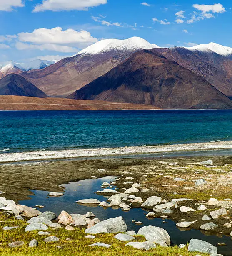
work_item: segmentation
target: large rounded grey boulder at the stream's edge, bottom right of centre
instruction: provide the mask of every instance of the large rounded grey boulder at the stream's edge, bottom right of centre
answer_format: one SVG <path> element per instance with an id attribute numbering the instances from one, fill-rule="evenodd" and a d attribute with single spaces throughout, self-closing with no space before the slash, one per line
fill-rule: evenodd
<path id="1" fill-rule="evenodd" d="M 170 236 L 166 230 L 159 227 L 147 226 L 142 227 L 137 235 L 144 236 L 147 241 L 158 243 L 160 246 L 170 246 Z"/>

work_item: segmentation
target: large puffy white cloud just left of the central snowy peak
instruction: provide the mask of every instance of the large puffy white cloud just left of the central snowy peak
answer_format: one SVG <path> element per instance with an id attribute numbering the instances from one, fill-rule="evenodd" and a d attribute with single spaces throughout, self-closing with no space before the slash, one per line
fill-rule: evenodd
<path id="1" fill-rule="evenodd" d="M 74 29 L 62 30 L 60 27 L 47 29 L 39 28 L 33 32 L 22 32 L 18 34 L 19 41 L 33 44 L 74 44 L 95 43 L 97 38 L 91 36 L 85 30 L 75 31 Z"/>

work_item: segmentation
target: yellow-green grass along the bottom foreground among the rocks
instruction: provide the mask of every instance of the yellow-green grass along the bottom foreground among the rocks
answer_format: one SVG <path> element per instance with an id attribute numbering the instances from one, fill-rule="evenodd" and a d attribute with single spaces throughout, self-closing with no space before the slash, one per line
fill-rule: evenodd
<path id="1" fill-rule="evenodd" d="M 25 232 L 27 223 L 22 220 L 15 220 L 13 217 L 0 214 L 0 255 L 1 256 L 60 256 L 60 255 L 93 255 L 93 256 L 108 256 L 108 255 L 154 255 L 154 256 L 195 256 L 196 253 L 190 253 L 186 248 L 179 249 L 177 246 L 157 248 L 150 251 L 140 251 L 125 246 L 127 242 L 116 240 L 114 234 L 97 234 L 95 239 L 87 239 L 84 229 L 76 228 L 73 231 L 62 229 L 49 229 L 50 236 L 57 236 L 60 241 L 53 243 L 45 243 L 43 240 L 46 236 L 39 236 L 37 231 Z M 2 230 L 4 226 L 20 226 L 14 230 Z M 66 241 L 66 238 L 71 238 L 71 241 Z M 39 242 L 38 247 L 30 248 L 28 243 L 32 239 L 37 239 Z M 13 241 L 24 241 L 25 245 L 17 248 L 10 248 L 8 243 Z M 136 236 L 134 241 L 145 241 L 142 236 Z M 96 242 L 108 243 L 110 248 L 90 247 L 88 245 Z M 61 246 L 62 249 L 56 246 Z M 202 256 L 208 254 L 201 253 Z"/>

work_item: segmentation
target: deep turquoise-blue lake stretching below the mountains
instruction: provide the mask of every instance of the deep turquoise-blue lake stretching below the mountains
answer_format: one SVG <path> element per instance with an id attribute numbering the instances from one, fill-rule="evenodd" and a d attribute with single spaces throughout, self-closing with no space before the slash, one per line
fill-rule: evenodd
<path id="1" fill-rule="evenodd" d="M 232 140 L 232 110 L 1 111 L 0 153 Z"/>

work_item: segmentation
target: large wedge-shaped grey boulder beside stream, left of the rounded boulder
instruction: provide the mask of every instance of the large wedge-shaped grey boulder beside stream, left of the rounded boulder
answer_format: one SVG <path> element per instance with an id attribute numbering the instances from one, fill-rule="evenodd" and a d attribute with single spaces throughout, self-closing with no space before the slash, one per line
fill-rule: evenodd
<path id="1" fill-rule="evenodd" d="M 97 223 L 91 228 L 87 228 L 85 233 L 87 234 L 98 234 L 98 233 L 120 233 L 127 231 L 127 225 L 123 218 L 116 217 L 108 220 L 103 220 Z"/>

